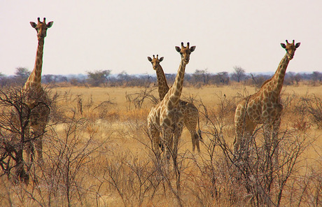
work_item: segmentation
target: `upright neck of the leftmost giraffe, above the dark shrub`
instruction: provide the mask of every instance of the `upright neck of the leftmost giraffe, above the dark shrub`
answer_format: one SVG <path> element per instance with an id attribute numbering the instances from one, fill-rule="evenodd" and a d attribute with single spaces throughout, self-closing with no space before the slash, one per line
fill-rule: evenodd
<path id="1" fill-rule="evenodd" d="M 36 62 L 34 70 L 31 72 L 24 89 L 27 90 L 30 87 L 41 87 L 41 69 L 43 67 L 43 44 L 44 39 L 38 41 L 38 47 L 36 52 Z"/>

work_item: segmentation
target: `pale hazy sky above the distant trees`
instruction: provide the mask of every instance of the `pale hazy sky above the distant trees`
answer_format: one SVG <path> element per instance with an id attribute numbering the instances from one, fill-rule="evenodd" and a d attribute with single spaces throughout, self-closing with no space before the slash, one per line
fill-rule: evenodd
<path id="1" fill-rule="evenodd" d="M 0 1 L 0 73 L 34 68 L 36 31 L 46 17 L 44 74 L 109 69 L 113 74 L 154 74 L 147 57 L 165 57 L 176 73 L 183 41 L 197 48 L 186 73 L 241 66 L 247 73 L 274 72 L 285 40 L 300 42 L 288 71 L 322 71 L 322 1 Z"/>

